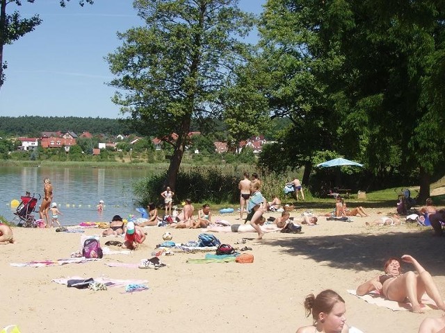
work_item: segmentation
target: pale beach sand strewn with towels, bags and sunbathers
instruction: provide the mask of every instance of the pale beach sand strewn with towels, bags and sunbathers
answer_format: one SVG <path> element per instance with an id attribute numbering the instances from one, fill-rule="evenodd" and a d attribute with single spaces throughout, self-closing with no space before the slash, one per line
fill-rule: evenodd
<path id="1" fill-rule="evenodd" d="M 350 207 L 353 204 L 350 203 Z M 138 264 L 152 257 L 167 228 L 146 228 L 147 241 L 130 255 L 106 255 L 97 262 L 40 268 L 15 267 L 11 263 L 56 260 L 79 249 L 81 234 L 54 229 L 14 228 L 16 244 L 0 246 L 0 328 L 10 324 L 26 332 L 295 332 L 312 323 L 302 302 L 308 293 L 334 289 L 346 301 L 347 323 L 366 333 L 417 332 L 426 314 L 391 311 L 371 305 L 347 293 L 380 273 L 390 256 L 410 254 L 433 275 L 445 296 L 445 239 L 432 237 L 430 228 L 414 225 L 369 227 L 366 221 L 380 216 L 369 210 L 368 218 L 352 223 L 326 221 L 303 226 L 300 234 L 218 233 L 225 244 L 246 246 L 253 264 L 191 264 L 204 253 L 161 256 L 167 267 L 159 270 L 108 267 L 106 262 Z M 302 210 L 291 213 L 298 220 Z M 385 212 L 385 210 L 383 210 Z M 106 214 L 106 212 L 104 213 Z M 278 213 L 268 213 L 278 216 Z M 217 216 L 236 223 L 236 214 Z M 197 240 L 203 230 L 170 230 L 173 240 Z M 86 229 L 85 234 L 102 230 Z M 107 240 L 122 240 L 102 237 Z M 117 250 L 113 246 L 112 250 Z M 410 266 L 405 264 L 405 269 Z M 51 282 L 79 275 L 83 278 L 147 280 L 149 290 L 125 293 L 123 287 L 107 291 L 67 288 Z"/>

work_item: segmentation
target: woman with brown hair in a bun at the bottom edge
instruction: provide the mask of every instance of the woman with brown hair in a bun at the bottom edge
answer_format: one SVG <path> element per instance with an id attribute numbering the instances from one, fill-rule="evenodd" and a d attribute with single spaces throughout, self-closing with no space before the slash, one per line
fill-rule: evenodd
<path id="1" fill-rule="evenodd" d="M 313 293 L 309 294 L 305 299 L 305 309 L 308 317 L 312 314 L 314 324 L 300 327 L 297 333 L 350 332 L 346 325 L 345 301 L 335 291 L 326 289 L 317 297 Z"/>

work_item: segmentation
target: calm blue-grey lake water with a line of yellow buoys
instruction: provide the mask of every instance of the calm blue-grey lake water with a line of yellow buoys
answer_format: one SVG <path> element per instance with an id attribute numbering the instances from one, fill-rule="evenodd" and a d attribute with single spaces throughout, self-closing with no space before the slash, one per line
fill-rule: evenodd
<path id="1" fill-rule="evenodd" d="M 137 198 L 132 182 L 147 176 L 145 170 L 70 169 L 49 167 L 0 167 L 0 215 L 13 221 L 15 209 L 11 200 L 20 201 L 26 191 L 43 196 L 43 179 L 51 180 L 54 198 L 62 225 L 77 225 L 84 221 L 111 221 L 115 214 L 127 218 L 136 212 Z M 104 212 L 97 212 L 99 200 L 105 201 Z M 42 200 L 38 200 L 38 205 Z M 36 208 L 38 210 L 38 207 Z M 39 219 L 38 212 L 35 219 Z M 13 221 L 15 223 L 17 221 Z"/>

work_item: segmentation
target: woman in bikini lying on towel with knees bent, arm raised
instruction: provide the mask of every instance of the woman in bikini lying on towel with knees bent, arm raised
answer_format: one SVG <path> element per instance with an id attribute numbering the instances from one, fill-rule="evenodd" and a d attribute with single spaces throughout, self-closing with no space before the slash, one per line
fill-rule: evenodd
<path id="1" fill-rule="evenodd" d="M 423 293 L 426 292 L 436 302 L 437 307 L 445 311 L 444 300 L 440 296 L 430 273 L 410 255 L 403 255 L 401 259 L 403 262 L 412 264 L 416 272 L 402 273 L 401 261 L 398 258 L 390 258 L 385 262 L 385 274 L 378 275 L 359 285 L 357 295 L 364 296 L 366 293 L 376 290 L 388 300 L 405 302 L 408 298 L 412 305 L 411 311 L 423 313 L 421 298 Z"/>

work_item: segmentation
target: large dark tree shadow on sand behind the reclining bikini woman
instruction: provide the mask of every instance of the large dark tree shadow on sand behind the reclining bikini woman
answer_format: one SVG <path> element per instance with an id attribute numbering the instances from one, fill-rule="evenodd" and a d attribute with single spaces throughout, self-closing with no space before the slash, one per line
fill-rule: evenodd
<path id="1" fill-rule="evenodd" d="M 389 257 L 408 254 L 416 258 L 432 275 L 445 275 L 445 237 L 435 237 L 432 233 L 432 230 L 419 230 L 315 237 L 291 234 L 282 239 L 265 238 L 262 242 L 282 246 L 282 250 L 288 255 L 305 255 L 327 266 L 356 271 L 382 271 L 383 264 Z M 410 264 L 406 264 L 405 270 L 412 269 L 409 266 Z"/>

